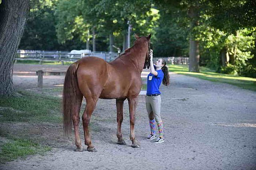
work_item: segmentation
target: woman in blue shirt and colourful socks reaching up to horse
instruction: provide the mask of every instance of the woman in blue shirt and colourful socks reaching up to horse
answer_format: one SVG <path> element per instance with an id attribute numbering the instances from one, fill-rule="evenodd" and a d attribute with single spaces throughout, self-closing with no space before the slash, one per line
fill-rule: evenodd
<path id="1" fill-rule="evenodd" d="M 161 109 L 161 93 L 159 87 L 161 82 L 163 85 L 169 85 L 169 72 L 166 67 L 166 61 L 164 59 L 158 59 L 153 64 L 153 50 L 150 49 L 150 73 L 148 74 L 147 81 L 147 95 L 146 95 L 146 109 L 148 112 L 149 126 L 151 133 L 148 135 L 149 140 L 156 138 L 156 132 L 154 130 L 156 124 L 158 127 L 159 137 L 156 139 L 156 143 L 164 142 L 163 137 L 163 122 L 160 116 Z"/>

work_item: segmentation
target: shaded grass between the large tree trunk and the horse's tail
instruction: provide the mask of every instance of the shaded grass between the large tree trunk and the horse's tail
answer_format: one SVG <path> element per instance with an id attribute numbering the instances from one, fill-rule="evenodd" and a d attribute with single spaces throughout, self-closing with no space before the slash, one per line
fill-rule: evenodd
<path id="1" fill-rule="evenodd" d="M 61 122 L 61 99 L 32 93 L 0 98 L 0 122 Z"/>

